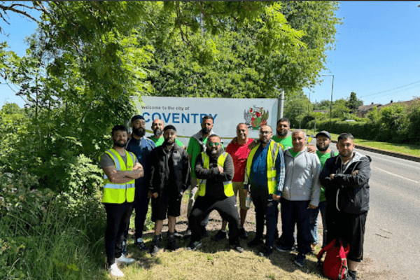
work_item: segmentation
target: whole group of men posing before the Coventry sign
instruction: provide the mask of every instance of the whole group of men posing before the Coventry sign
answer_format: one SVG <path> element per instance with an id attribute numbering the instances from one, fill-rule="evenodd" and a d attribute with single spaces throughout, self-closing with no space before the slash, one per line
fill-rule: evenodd
<path id="1" fill-rule="evenodd" d="M 316 151 L 306 145 L 303 130 L 290 134 L 289 120 L 281 118 L 276 124 L 276 135 L 273 136 L 272 127 L 262 125 L 255 141 L 248 138 L 246 124 L 239 123 L 237 137 L 225 149 L 213 131 L 213 118 L 204 116 L 202 129 L 190 138 L 186 150 L 176 139 L 176 127 L 164 126 L 162 120 L 153 120 L 154 134 L 150 139 L 144 137 L 146 123 L 142 116 L 134 116 L 131 126 L 130 139 L 124 126 L 113 128 L 113 148 L 101 158 L 105 173 L 102 202 L 107 214 L 106 255 L 112 275 L 124 275 L 118 269 L 118 262 L 134 262 L 125 256 L 133 208 L 136 212 L 134 244 L 141 250 L 147 249 L 142 233 L 150 197 L 155 222 L 151 255 L 160 251 L 166 218 L 169 228 L 166 248 L 179 248 L 175 239 L 176 217 L 180 216 L 183 193 L 190 188 L 188 250 L 202 245 L 209 214 L 216 210 L 223 218 L 223 225 L 212 239 L 225 239 L 229 223 L 230 248 L 241 253 L 244 249 L 239 238 L 248 237 L 244 222 L 250 207 L 247 200 L 251 198 L 256 230 L 248 246 L 261 246 L 260 255 L 268 257 L 278 237 L 280 203 L 282 233 L 275 248 L 291 251 L 295 246 L 296 227 L 294 262 L 303 267 L 305 255 L 318 243 L 317 220 L 321 211 L 323 246 L 336 238 L 349 243 L 348 279 L 356 279 L 357 265 L 363 258 L 370 158 L 353 151 L 351 134 L 339 136 L 337 155 L 330 151 L 330 134 L 319 132 Z"/>

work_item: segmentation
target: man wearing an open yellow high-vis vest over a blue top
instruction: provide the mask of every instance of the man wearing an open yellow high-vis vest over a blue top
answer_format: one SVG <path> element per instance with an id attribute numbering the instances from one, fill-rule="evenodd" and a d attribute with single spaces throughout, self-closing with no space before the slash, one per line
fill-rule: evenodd
<path id="1" fill-rule="evenodd" d="M 277 230 L 279 202 L 275 196 L 281 195 L 284 183 L 284 158 L 281 144 L 272 140 L 272 128 L 269 125 L 260 127 L 260 141 L 246 160 L 244 188 L 251 191 L 255 205 L 256 235 L 248 246 L 259 246 L 263 243 L 264 223 L 267 225 L 265 246 L 260 255 L 268 257 L 273 252 L 274 236 Z M 251 185 L 251 188 L 249 187 Z"/>

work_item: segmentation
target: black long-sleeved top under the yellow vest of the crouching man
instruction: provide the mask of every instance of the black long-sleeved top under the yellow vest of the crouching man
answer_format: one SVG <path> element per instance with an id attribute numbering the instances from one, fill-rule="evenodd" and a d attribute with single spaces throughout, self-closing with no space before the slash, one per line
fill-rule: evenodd
<path id="1" fill-rule="evenodd" d="M 232 181 L 233 175 L 235 174 L 235 167 L 233 166 L 232 156 L 228 155 L 225 159 L 225 164 L 223 165 L 223 173 L 219 172 L 217 167 L 218 157 L 224 152 L 223 148 L 218 151 L 216 158 L 211 157 L 209 149 L 206 153 L 209 155 L 209 169 L 203 167 L 202 154 L 197 156 L 195 161 L 195 174 L 199 183 L 202 179 L 206 180 L 206 194 L 204 197 L 212 197 L 216 200 L 224 200 L 225 195 L 225 186 L 223 182 Z"/>

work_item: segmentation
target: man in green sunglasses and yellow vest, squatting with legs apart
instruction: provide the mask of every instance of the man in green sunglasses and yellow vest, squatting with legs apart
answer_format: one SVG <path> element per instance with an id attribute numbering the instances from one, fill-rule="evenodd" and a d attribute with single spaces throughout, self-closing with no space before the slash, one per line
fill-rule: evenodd
<path id="1" fill-rule="evenodd" d="M 223 150 L 221 138 L 216 134 L 209 136 L 206 146 L 206 151 L 198 155 L 195 162 L 195 174 L 200 186 L 197 191 L 197 200 L 188 218 L 191 239 L 187 249 L 195 250 L 201 246 L 200 224 L 211 211 L 217 210 L 223 221 L 229 223 L 230 247 L 241 253 L 244 249 L 239 244 L 239 214 L 232 186 L 235 173 L 233 160 Z"/>

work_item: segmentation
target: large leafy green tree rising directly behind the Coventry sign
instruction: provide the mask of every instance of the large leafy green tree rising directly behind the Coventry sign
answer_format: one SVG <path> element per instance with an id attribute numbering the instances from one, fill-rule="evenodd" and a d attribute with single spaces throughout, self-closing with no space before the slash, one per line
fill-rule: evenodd
<path id="1" fill-rule="evenodd" d="M 141 40 L 155 46 L 153 62 L 148 66 L 152 94 L 277 97 L 277 88 L 293 94 L 314 85 L 339 23 L 336 2 L 251 2 L 244 3 L 245 11 L 240 13 L 228 8 L 241 10 L 241 3 L 201 5 L 186 2 L 177 6 L 176 2 L 148 8 L 146 22 L 151 23 L 139 30 Z M 169 6 L 179 7 L 181 12 L 168 10 Z M 203 14 L 201 32 L 203 8 L 208 13 Z M 251 8 L 252 13 L 246 10 Z M 252 18 L 244 20 L 250 13 Z M 215 22 L 211 18 L 215 14 L 221 15 L 223 22 Z M 180 18 L 195 20 L 188 20 L 189 29 L 172 29 Z M 167 32 L 157 31 L 164 29 Z"/>

